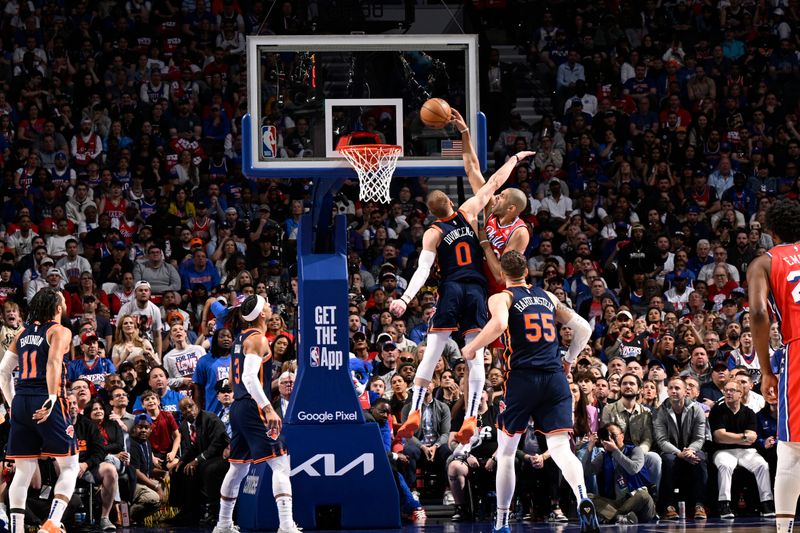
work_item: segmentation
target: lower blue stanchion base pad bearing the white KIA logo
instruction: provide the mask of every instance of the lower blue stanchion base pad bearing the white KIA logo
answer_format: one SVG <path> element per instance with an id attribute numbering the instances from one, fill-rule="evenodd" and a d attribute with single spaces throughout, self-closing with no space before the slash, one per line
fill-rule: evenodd
<path id="1" fill-rule="evenodd" d="M 284 437 L 301 528 L 317 529 L 319 506 L 340 506 L 342 529 L 400 527 L 397 487 L 376 424 L 289 425 Z M 248 530 L 278 528 L 267 463 L 251 466 L 242 483 L 236 523 Z"/>

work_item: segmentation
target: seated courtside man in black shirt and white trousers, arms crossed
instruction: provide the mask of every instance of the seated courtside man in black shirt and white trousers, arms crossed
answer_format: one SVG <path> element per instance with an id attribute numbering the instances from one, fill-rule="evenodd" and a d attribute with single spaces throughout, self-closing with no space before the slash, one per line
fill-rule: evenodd
<path id="1" fill-rule="evenodd" d="M 736 381 L 726 383 L 724 400 L 715 404 L 708 416 L 716 450 L 713 461 L 717 467 L 719 483 L 719 514 L 721 518 L 734 517 L 730 505 L 731 479 L 733 470 L 741 466 L 756 477 L 761 516 L 774 517 L 769 465 L 758 454 L 754 445 L 758 438 L 758 421 L 756 414 L 742 405 L 741 397 L 742 389 Z"/>

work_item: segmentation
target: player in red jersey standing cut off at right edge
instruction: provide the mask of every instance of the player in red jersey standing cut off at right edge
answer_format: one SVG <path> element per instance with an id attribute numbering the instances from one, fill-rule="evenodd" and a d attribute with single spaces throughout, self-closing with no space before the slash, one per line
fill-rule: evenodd
<path id="1" fill-rule="evenodd" d="M 767 210 L 766 225 L 777 245 L 747 269 L 750 327 L 761 367 L 761 394 L 778 402 L 778 467 L 775 517 L 779 533 L 792 531 L 800 496 L 800 204 L 779 200 Z M 786 343 L 780 379 L 769 357 L 770 293 Z"/>

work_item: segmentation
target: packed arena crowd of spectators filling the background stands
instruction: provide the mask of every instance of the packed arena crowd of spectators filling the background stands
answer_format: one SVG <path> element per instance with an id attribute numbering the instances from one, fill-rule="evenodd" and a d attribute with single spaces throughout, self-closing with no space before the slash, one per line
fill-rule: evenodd
<path id="1" fill-rule="evenodd" d="M 304 180 L 242 175 L 245 36 L 352 28 L 314 1 L 272 11 L 262 0 L 2 5 L 3 352 L 32 296 L 63 290 L 84 495 L 71 520 L 87 520 L 91 491 L 99 503 L 89 516 L 105 531 L 122 524 L 123 507 L 133 523 L 210 524 L 233 401 L 220 306 L 269 298 L 273 405 L 283 414 L 296 370 L 295 242 L 309 207 Z M 746 271 L 773 245 L 768 206 L 800 199 L 800 8 L 509 0 L 471 2 L 465 13 L 481 35 L 495 162 L 537 151 L 509 180 L 528 196 L 530 283 L 594 328 L 570 380 L 574 450 L 598 513 L 669 519 L 681 502 L 695 519 L 770 516 L 777 413 L 758 394 Z M 500 61 L 491 39 L 503 31 L 526 62 Z M 551 110 L 536 124 L 514 107 L 531 96 L 525 80 Z M 308 149 L 291 95 L 267 96 L 281 153 Z M 350 220 L 350 366 L 393 465 L 419 489 L 412 501 L 444 498 L 454 520 L 468 520 L 493 491 L 502 348 L 485 359 L 481 441 L 469 454 L 451 453 L 466 387 L 460 339 L 437 367 L 423 427 L 393 438 L 436 305 L 431 279 L 406 315 L 387 310 L 432 220 L 427 191 L 421 177 L 397 181 L 389 206 L 359 203 L 352 185 L 339 199 Z M 566 350 L 569 328 L 558 342 Z M 776 369 L 781 347 L 775 324 Z M 529 429 L 518 516 L 566 520 L 569 491 Z M 55 476 L 52 461 L 40 471 L 31 514 Z"/>

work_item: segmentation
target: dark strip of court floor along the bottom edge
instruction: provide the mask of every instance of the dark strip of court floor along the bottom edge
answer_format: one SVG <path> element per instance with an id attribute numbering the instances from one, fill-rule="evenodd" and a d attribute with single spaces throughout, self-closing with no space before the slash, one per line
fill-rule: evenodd
<path id="1" fill-rule="evenodd" d="M 736 520 L 707 520 L 705 522 L 694 522 L 693 520 L 676 522 L 651 522 L 649 524 L 638 524 L 633 526 L 600 526 L 603 533 L 682 533 L 686 531 L 712 531 L 719 533 L 774 533 L 775 521 L 764 520 L 761 518 L 737 518 Z M 175 533 L 210 533 L 211 529 L 202 528 L 153 528 L 153 529 L 131 529 L 121 528 L 119 533 L 156 533 L 172 532 Z M 401 530 L 354 530 L 352 533 L 373 533 L 380 531 L 402 531 L 402 533 L 415 533 L 424 531 L 425 533 L 491 533 L 492 524 L 489 522 L 458 523 L 433 521 L 424 527 L 405 526 Z M 538 523 L 514 523 L 511 524 L 511 533 L 579 533 L 580 528 L 577 523 L 569 524 L 548 524 Z M 320 530 L 323 533 L 323 530 Z M 333 532 L 332 532 L 333 533 Z M 335 533 L 351 533 L 347 530 L 336 530 Z"/>

